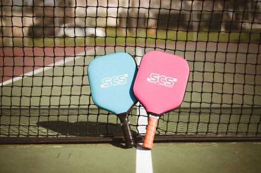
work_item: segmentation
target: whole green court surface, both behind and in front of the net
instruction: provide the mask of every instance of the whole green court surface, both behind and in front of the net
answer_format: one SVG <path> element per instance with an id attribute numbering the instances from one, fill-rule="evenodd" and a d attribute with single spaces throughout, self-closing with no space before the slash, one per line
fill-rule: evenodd
<path id="1" fill-rule="evenodd" d="M 160 118 L 156 135 L 260 135 L 260 45 L 184 42 L 175 44 L 180 51 L 169 46 L 162 47 L 186 57 L 190 79 L 181 107 Z M 119 51 L 130 53 L 139 65 L 149 50 L 153 45 L 96 47 L 47 65 L 34 77 L 26 74 L 5 83 L 0 137 L 122 135 L 117 116 L 93 104 L 87 67 L 94 55 Z M 147 115 L 138 104 L 129 116 L 134 135 L 144 134 L 139 127 L 146 124 L 138 123 L 142 117 Z M 137 168 L 143 164 L 138 164 L 139 151 L 119 143 L 0 145 L 0 172 L 146 173 Z M 155 143 L 151 158 L 153 173 L 259 173 L 261 143 Z"/>

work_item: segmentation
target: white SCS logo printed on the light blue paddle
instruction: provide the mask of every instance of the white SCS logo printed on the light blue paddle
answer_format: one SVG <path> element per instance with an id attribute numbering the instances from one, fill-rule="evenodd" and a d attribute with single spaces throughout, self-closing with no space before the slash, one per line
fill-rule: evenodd
<path id="1" fill-rule="evenodd" d="M 102 85 L 100 87 L 110 87 L 110 86 L 118 86 L 118 85 L 123 85 L 126 84 L 128 74 L 122 74 L 119 76 L 113 76 L 111 78 L 104 78 L 102 79 Z"/>

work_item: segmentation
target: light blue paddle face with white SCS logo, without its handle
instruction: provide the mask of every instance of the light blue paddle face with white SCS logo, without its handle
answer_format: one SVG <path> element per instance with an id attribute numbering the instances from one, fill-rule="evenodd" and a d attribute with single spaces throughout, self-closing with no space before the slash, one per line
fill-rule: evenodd
<path id="1" fill-rule="evenodd" d="M 136 74 L 137 65 L 128 53 L 95 58 L 88 66 L 95 105 L 114 114 L 127 112 L 137 102 L 133 93 Z"/>

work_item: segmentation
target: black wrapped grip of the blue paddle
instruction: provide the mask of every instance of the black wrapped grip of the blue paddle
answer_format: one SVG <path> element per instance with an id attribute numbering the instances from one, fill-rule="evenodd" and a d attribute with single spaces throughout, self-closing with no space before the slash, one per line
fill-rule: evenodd
<path id="1" fill-rule="evenodd" d="M 121 125 L 122 132 L 123 132 L 124 139 L 125 139 L 125 147 L 132 148 L 135 146 L 135 140 L 132 136 L 128 113 L 120 114 L 120 115 L 118 115 L 118 117 L 119 117 L 119 120 L 121 123 L 120 125 Z"/>

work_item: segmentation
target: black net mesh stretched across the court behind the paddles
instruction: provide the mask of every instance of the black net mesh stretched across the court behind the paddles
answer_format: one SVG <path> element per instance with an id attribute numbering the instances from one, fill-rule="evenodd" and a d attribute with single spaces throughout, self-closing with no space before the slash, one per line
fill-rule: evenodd
<path id="1" fill-rule="evenodd" d="M 139 65 L 151 50 L 190 65 L 184 101 L 155 139 L 258 137 L 260 21 L 260 0 L 0 0 L 0 137 L 122 136 L 117 116 L 93 103 L 88 64 L 127 52 Z M 129 119 L 144 135 L 142 105 Z"/>

